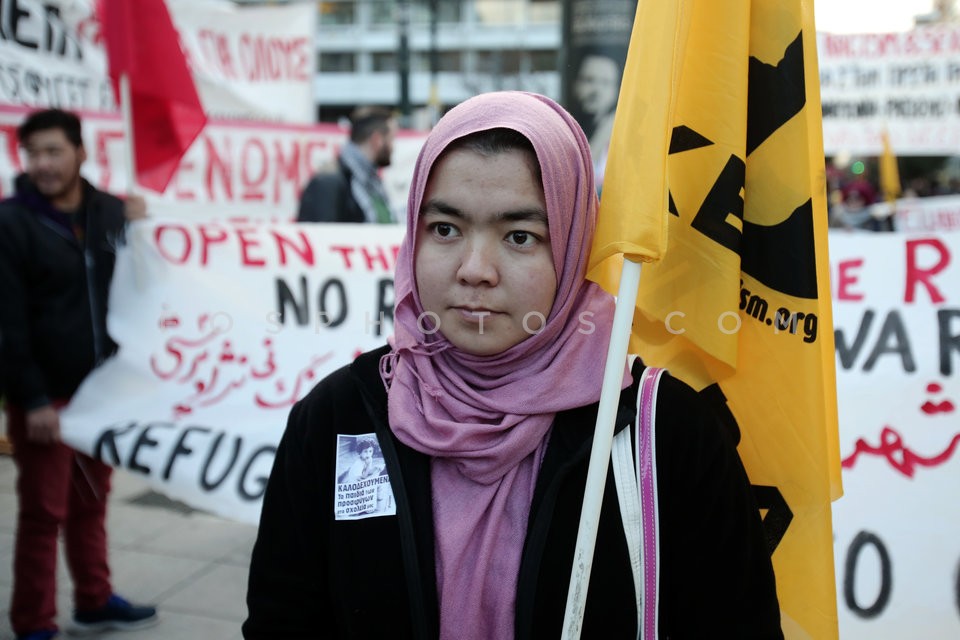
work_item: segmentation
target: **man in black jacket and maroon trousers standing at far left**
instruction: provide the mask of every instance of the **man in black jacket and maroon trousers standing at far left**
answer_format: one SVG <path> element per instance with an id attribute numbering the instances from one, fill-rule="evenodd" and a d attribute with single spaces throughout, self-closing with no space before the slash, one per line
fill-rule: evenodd
<path id="1" fill-rule="evenodd" d="M 57 537 L 74 582 L 77 630 L 135 628 L 153 607 L 113 593 L 104 520 L 110 467 L 60 436 L 59 410 L 117 345 L 106 328 L 116 246 L 139 197 L 98 191 L 80 176 L 80 120 L 57 109 L 18 128 L 26 173 L 0 202 L 0 361 L 17 464 L 19 516 L 10 621 L 17 638 L 57 633 Z"/>

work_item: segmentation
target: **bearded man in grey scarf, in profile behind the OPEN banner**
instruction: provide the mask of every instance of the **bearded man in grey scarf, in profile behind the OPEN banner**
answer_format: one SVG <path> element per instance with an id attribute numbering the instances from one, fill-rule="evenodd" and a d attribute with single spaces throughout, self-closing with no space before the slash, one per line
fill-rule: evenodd
<path id="1" fill-rule="evenodd" d="M 298 222 L 396 222 L 377 172 L 390 165 L 397 119 L 388 109 L 360 107 L 350 122 L 339 157 L 304 188 Z"/>

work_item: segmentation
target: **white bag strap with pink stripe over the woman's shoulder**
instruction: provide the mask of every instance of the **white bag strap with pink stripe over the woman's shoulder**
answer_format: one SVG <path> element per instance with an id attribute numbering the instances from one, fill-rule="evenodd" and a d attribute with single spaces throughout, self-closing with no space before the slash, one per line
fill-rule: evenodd
<path id="1" fill-rule="evenodd" d="M 632 362 L 631 362 L 632 365 Z M 636 449 L 630 429 L 613 438 L 611 464 L 627 551 L 637 595 L 637 628 L 640 640 L 656 640 L 660 578 L 659 510 L 656 466 L 656 403 L 663 369 L 647 367 L 637 389 Z"/>

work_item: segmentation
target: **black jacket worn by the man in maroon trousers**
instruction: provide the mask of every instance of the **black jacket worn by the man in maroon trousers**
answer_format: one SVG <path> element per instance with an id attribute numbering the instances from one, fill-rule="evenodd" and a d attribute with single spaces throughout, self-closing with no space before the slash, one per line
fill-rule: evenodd
<path id="1" fill-rule="evenodd" d="M 16 194 L 0 202 L 0 371 L 10 402 L 33 409 L 68 398 L 116 351 L 107 335 L 107 296 L 123 207 L 84 181 L 72 220 L 25 175 Z"/>

